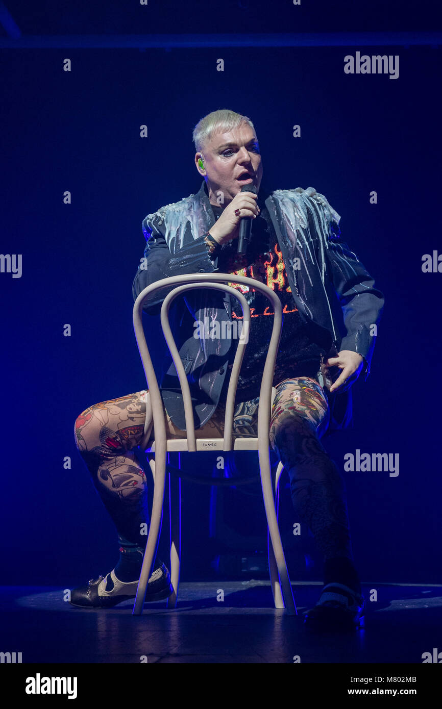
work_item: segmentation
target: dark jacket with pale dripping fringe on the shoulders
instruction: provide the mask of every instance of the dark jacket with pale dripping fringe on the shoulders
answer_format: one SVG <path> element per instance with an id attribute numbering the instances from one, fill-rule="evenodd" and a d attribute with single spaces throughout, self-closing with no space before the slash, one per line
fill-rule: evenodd
<path id="1" fill-rule="evenodd" d="M 355 253 L 341 242 L 338 227 L 341 217 L 313 187 L 264 194 L 268 194 L 265 206 L 282 251 L 294 303 L 311 339 L 324 347 L 328 357 L 340 350 L 361 354 L 366 380 L 375 346 L 372 328 L 380 320 L 384 296 L 375 288 L 375 282 Z M 216 272 L 217 262 L 209 258 L 204 242 L 204 234 L 215 221 L 205 182 L 197 194 L 148 214 L 143 220 L 147 244 L 132 286 L 134 301 L 146 286 L 160 279 Z M 158 291 L 145 304 L 144 311 L 157 315 L 166 294 L 165 289 Z M 333 314 L 336 296 L 347 330 L 343 337 Z M 172 329 L 189 381 L 197 427 L 204 425 L 215 411 L 228 371 L 226 363 L 231 361 L 231 348 L 236 349 L 236 344 L 228 338 L 195 339 L 194 321 L 206 322 L 204 317 L 214 316 L 211 308 L 215 309 L 218 320 L 231 320 L 231 297 L 219 291 L 189 292 L 181 298 L 178 326 L 175 331 Z M 170 362 L 169 355 L 167 364 Z M 167 372 L 163 369 L 159 379 L 167 412 L 177 428 L 184 430 L 184 407 L 173 363 Z M 346 428 L 352 413 L 351 391 L 329 395 L 329 403 L 328 432 Z"/>

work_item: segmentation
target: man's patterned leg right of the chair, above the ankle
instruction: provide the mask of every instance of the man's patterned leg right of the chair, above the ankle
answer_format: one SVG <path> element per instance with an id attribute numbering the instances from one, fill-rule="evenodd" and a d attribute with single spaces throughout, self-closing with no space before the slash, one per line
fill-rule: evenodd
<path id="1" fill-rule="evenodd" d="M 324 391 L 310 377 L 286 379 L 276 389 L 270 442 L 289 471 L 294 509 L 324 559 L 351 559 L 343 479 L 319 442 L 329 420 Z"/>

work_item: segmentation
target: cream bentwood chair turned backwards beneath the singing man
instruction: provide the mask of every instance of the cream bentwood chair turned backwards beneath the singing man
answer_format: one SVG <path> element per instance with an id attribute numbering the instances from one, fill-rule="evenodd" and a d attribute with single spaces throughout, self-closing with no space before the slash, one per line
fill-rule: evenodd
<path id="1" fill-rule="evenodd" d="M 249 286 L 249 288 L 254 288 L 270 300 L 275 316 L 260 387 L 260 399 L 258 406 L 258 438 L 237 437 L 232 448 L 233 413 L 236 388 L 238 386 L 238 375 L 240 372 L 241 363 L 243 362 L 244 348 L 248 340 L 248 338 L 245 337 L 245 333 L 250 332 L 250 308 L 245 300 L 245 297 L 238 289 L 226 285 L 228 282 L 231 282 L 232 279 L 232 274 L 222 273 L 187 274 L 184 276 L 165 278 L 160 281 L 156 281 L 154 284 L 151 284 L 141 291 L 133 306 L 133 327 L 138 343 L 138 350 L 143 362 L 153 412 L 153 423 L 150 423 L 150 425 L 148 425 L 148 417 L 146 416 L 144 437 L 140 443 L 140 447 L 143 447 L 143 450 L 146 450 L 146 452 L 155 453 L 155 460 L 150 457 L 149 461 L 154 479 L 152 516 L 150 520 L 143 566 L 141 569 L 136 599 L 133 606 L 133 615 L 141 615 L 143 611 L 143 603 L 148 579 L 150 578 L 153 559 L 155 559 L 158 548 L 158 537 L 162 521 L 162 507 L 165 492 L 165 474 L 167 467 L 166 457 L 168 457 L 166 454 L 171 451 L 196 452 L 199 450 L 258 450 L 265 514 L 267 517 L 270 582 L 275 608 L 286 608 L 286 612 L 289 615 L 297 614 L 292 593 L 292 586 L 290 584 L 289 574 L 287 571 L 287 564 L 285 562 L 284 551 L 282 549 L 280 530 L 277 523 L 277 510 L 275 509 L 275 498 L 272 491 L 272 476 L 270 469 L 270 413 L 272 409 L 272 401 L 276 393 L 276 389 L 272 387 L 272 381 L 275 373 L 275 362 L 282 331 L 282 306 L 277 294 L 275 294 L 275 292 L 268 288 L 265 284 L 252 278 L 235 275 L 235 283 Z M 177 369 L 179 384 L 182 389 L 187 438 L 167 440 L 165 409 L 162 403 L 158 380 L 155 376 L 152 360 L 150 359 L 148 345 L 145 340 L 142 313 L 143 303 L 148 296 L 152 296 L 156 291 L 162 288 L 175 285 L 177 287 L 170 291 L 162 302 L 160 320 L 162 332 L 164 333 L 167 347 L 169 347 L 175 368 Z M 179 353 L 177 346 L 175 345 L 175 340 L 172 336 L 172 330 L 169 323 L 169 310 L 172 301 L 177 296 L 184 293 L 184 291 L 201 288 L 224 291 L 232 296 L 235 296 L 238 298 L 243 311 L 243 328 L 241 330 L 241 336 L 238 340 L 238 347 L 236 349 L 236 354 L 231 369 L 230 381 L 228 383 L 223 438 L 198 439 L 195 435 L 198 430 L 195 430 L 194 428 L 194 415 L 192 410 L 189 382 L 187 381 L 182 361 L 179 358 Z M 153 435 L 155 436 L 154 439 L 151 436 L 152 430 Z M 283 466 L 280 462 L 277 467 L 275 479 L 275 493 L 278 497 L 278 483 L 282 469 Z M 232 484 L 234 484 L 234 479 L 232 480 Z M 174 512 L 172 512 L 172 493 L 175 493 L 175 497 L 177 497 L 177 499 L 175 499 L 177 510 Z M 179 554 L 181 545 L 179 519 L 181 501 L 179 485 L 173 486 L 173 491 L 172 485 L 170 486 L 170 503 L 170 575 L 174 593 L 172 593 L 172 596 L 170 596 L 167 601 L 167 608 L 175 608 L 179 585 Z"/>

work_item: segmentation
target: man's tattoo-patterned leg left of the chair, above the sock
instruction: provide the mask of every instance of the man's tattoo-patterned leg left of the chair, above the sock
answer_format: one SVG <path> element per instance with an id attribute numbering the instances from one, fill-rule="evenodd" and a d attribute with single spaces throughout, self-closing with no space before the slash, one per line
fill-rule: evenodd
<path id="1" fill-rule="evenodd" d="M 118 534 L 138 544 L 141 524 L 148 523 L 147 481 L 131 448 L 143 438 L 146 406 L 151 417 L 147 390 L 103 401 L 83 411 L 74 428 L 79 454 Z"/>

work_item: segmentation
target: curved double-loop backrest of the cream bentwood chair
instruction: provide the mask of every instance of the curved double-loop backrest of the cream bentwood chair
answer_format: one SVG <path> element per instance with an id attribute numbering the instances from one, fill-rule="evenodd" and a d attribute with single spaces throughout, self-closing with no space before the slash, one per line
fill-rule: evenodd
<path id="1" fill-rule="evenodd" d="M 272 335 L 270 337 L 267 357 L 265 359 L 263 377 L 261 379 L 260 400 L 258 405 L 258 439 L 260 436 L 264 436 L 267 437 L 268 440 L 270 428 L 270 408 L 272 401 L 272 381 L 275 372 L 277 350 L 280 344 L 282 331 L 282 305 L 280 298 L 278 298 L 275 291 L 272 291 L 261 281 L 257 281 L 253 278 L 238 276 L 236 274 L 233 277 L 233 274 L 223 274 L 219 272 L 204 274 L 184 274 L 165 278 L 160 281 L 155 281 L 155 283 L 151 284 L 150 286 L 147 286 L 145 289 L 143 289 L 143 291 L 141 291 L 133 306 L 133 328 L 135 330 L 138 350 L 140 352 L 141 361 L 143 362 L 143 368 L 145 371 L 146 381 L 148 383 L 148 390 L 150 393 L 150 402 L 152 404 L 153 411 L 153 428 L 155 431 L 155 452 L 157 453 L 157 439 L 159 438 L 161 442 L 164 440 L 164 445 L 161 445 L 161 447 L 165 454 L 165 450 L 167 447 L 167 435 L 165 429 L 164 408 L 162 405 L 160 387 L 158 386 L 158 380 L 153 369 L 152 359 L 150 357 L 143 329 L 143 304 L 148 299 L 148 297 L 152 296 L 152 294 L 154 294 L 156 291 L 164 289 L 166 287 L 170 288 L 171 286 L 175 286 L 175 288 L 173 288 L 169 293 L 167 293 L 167 296 L 165 296 L 165 299 L 162 302 L 160 320 L 162 332 L 165 336 L 167 347 L 170 350 L 170 354 L 175 364 L 175 368 L 177 369 L 179 384 L 182 390 L 182 397 L 184 403 L 184 418 L 186 421 L 187 432 L 186 450 L 196 451 L 197 441 L 194 428 L 192 398 L 190 394 L 189 382 L 187 381 L 187 376 L 184 372 L 184 366 L 179 357 L 177 345 L 175 344 L 175 340 L 172 335 L 172 330 L 170 328 L 170 306 L 172 305 L 172 301 L 180 294 L 183 294 L 185 291 L 201 288 L 224 291 L 238 299 L 241 305 L 241 309 L 243 311 L 243 327 L 241 329 L 241 335 L 238 340 L 238 347 L 236 349 L 236 354 L 231 369 L 230 380 L 228 383 L 222 449 L 225 451 L 232 450 L 233 413 L 235 406 L 236 389 L 238 386 L 238 376 L 241 369 L 241 363 L 243 362 L 245 347 L 248 344 L 248 333 L 250 332 L 250 308 L 248 306 L 248 303 L 243 294 L 238 291 L 238 289 L 233 288 L 233 286 L 227 285 L 229 282 L 233 282 L 233 279 L 236 284 L 243 284 L 245 286 L 248 286 L 249 288 L 254 288 L 257 291 L 260 291 L 260 293 L 262 293 L 268 298 L 268 300 L 270 300 L 270 303 L 273 307 L 273 311 L 275 313 L 275 316 L 273 318 Z M 147 428 L 148 420 L 146 417 L 145 432 L 147 431 Z"/>

